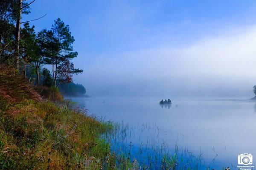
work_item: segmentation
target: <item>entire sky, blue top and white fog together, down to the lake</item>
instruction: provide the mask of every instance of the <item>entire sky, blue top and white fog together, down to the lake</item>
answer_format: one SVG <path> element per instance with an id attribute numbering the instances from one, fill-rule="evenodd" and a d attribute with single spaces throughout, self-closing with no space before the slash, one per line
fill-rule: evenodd
<path id="1" fill-rule="evenodd" d="M 79 52 L 74 63 L 84 70 L 74 79 L 88 94 L 147 96 L 154 92 L 152 96 L 187 97 L 201 89 L 198 96 L 246 96 L 256 84 L 253 74 L 248 74 L 253 70 L 247 71 L 254 61 L 256 1 L 36 0 L 31 8 L 23 21 L 47 13 L 31 23 L 37 31 L 50 28 L 58 17 L 70 25 L 74 49 Z M 239 51 L 229 51 L 235 47 Z M 211 56 L 216 51 L 218 56 Z M 247 62 L 237 77 L 239 59 L 244 56 Z M 186 65 L 187 61 L 198 67 Z M 207 64 L 215 67 L 204 68 Z M 213 77 L 221 83 L 211 82 Z M 223 93 L 220 86 L 233 88 Z M 156 91 L 157 87 L 164 90 Z"/>

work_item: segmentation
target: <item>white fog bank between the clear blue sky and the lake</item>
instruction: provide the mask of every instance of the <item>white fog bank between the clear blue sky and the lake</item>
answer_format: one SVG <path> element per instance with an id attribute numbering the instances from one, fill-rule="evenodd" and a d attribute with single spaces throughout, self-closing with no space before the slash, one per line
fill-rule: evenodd
<path id="1" fill-rule="evenodd" d="M 256 84 L 255 43 L 253 26 L 185 47 L 103 54 L 75 79 L 96 96 L 248 99 Z"/>

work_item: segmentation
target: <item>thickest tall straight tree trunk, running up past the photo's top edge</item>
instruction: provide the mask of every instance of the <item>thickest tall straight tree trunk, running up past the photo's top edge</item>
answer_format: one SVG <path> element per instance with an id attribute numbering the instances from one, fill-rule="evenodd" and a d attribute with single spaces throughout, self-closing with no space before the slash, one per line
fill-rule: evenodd
<path id="1" fill-rule="evenodd" d="M 19 9 L 16 20 L 16 31 L 15 31 L 15 68 L 19 69 L 19 51 L 20 51 L 20 19 L 21 19 L 21 11 L 22 11 L 22 0 L 19 0 Z"/>

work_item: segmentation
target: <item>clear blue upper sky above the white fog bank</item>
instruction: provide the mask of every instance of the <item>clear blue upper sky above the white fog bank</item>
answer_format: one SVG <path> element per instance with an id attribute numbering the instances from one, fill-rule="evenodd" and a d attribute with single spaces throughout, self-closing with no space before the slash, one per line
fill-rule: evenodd
<path id="1" fill-rule="evenodd" d="M 81 52 L 101 54 L 183 44 L 230 26 L 254 24 L 256 1 L 241 0 L 37 0 L 23 20 L 40 17 L 49 28 L 57 17 L 70 25 Z"/>

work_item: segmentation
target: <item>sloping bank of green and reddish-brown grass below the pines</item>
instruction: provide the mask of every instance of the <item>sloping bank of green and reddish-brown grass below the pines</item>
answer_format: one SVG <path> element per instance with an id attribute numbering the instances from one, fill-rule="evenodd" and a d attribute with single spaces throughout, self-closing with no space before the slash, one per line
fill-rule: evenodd
<path id="1" fill-rule="evenodd" d="M 41 96 L 19 75 L 0 71 L 0 169 L 114 169 L 100 123 L 70 102 Z"/>

